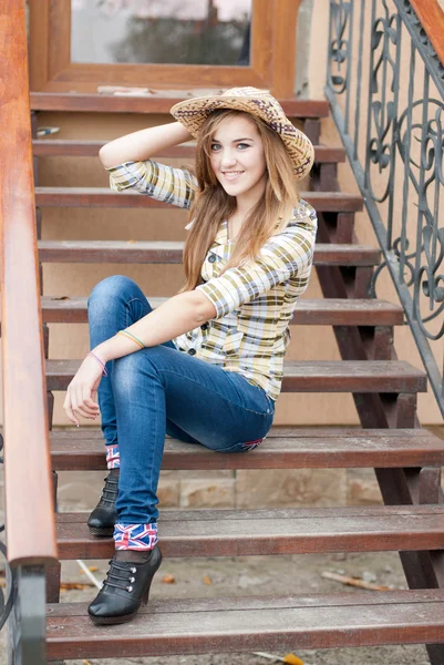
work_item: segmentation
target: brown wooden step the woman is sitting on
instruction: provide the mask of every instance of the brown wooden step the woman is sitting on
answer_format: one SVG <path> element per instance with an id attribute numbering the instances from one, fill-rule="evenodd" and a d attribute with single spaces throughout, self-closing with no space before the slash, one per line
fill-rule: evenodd
<path id="1" fill-rule="evenodd" d="M 50 433 L 55 471 L 104 470 L 99 428 Z M 352 469 L 444 466 L 444 441 L 422 429 L 359 430 L 272 427 L 248 454 L 217 453 L 204 446 L 165 440 L 162 469 Z"/>

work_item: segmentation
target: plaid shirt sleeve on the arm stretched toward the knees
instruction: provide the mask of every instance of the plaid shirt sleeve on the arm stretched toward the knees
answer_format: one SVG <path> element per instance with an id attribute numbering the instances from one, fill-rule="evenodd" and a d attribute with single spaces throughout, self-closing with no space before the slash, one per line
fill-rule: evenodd
<path id="1" fill-rule="evenodd" d="M 310 277 L 314 238 L 316 227 L 310 224 L 287 227 L 264 245 L 258 258 L 196 288 L 215 306 L 216 319 L 290 278 L 298 279 L 302 293 Z"/>

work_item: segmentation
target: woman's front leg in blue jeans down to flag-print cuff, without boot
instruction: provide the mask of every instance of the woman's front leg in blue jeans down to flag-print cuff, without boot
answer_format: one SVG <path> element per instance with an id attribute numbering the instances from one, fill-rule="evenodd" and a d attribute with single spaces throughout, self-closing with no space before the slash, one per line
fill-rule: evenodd
<path id="1" fill-rule="evenodd" d="M 116 360 L 112 389 L 121 451 L 117 549 L 128 542 L 151 549 L 156 542 L 156 491 L 167 418 L 215 451 L 251 449 L 273 418 L 273 402 L 261 388 L 165 346 Z"/>

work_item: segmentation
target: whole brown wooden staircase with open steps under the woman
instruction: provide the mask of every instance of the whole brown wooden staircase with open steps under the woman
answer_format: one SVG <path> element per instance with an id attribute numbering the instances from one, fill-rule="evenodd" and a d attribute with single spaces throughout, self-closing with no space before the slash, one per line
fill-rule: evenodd
<path id="1" fill-rule="evenodd" d="M 40 110 L 167 112 L 174 100 L 34 93 Z M 285 105 L 286 108 L 286 105 Z M 96 627 L 86 606 L 59 603 L 59 573 L 49 575 L 48 658 L 135 657 L 211 652 L 291 651 L 314 647 L 426 643 L 432 662 L 444 663 L 444 508 L 441 466 L 444 442 L 421 429 L 416 395 L 425 375 L 399 361 L 393 327 L 403 323 L 397 305 L 369 298 L 380 252 L 354 234 L 359 196 L 338 190 L 342 149 L 320 145 L 323 102 L 288 102 L 286 111 L 304 123 L 316 144 L 312 190 L 302 193 L 318 211 L 314 265 L 324 298 L 301 299 L 292 325 L 332 326 L 341 361 L 287 361 L 287 392 L 351 392 L 365 429 L 273 427 L 248 456 L 218 454 L 167 439 L 164 469 L 374 468 L 384 507 L 165 511 L 159 523 L 165 556 L 242 556 L 326 552 L 399 551 L 411 591 L 330 596 L 166 600 L 151 602 L 137 618 L 112 630 Z M 34 130 L 38 113 L 33 116 Z M 96 155 L 100 141 L 33 142 L 39 156 Z M 189 157 L 192 146 L 158 157 Z M 163 207 L 138 194 L 91 187 L 41 187 L 39 207 Z M 147 211 L 147 214 L 149 212 Z M 44 219 L 44 215 L 43 215 Z M 39 241 L 42 263 L 178 264 L 183 243 Z M 147 294 L 149 296 L 149 294 Z M 149 298 L 159 304 L 162 298 Z M 86 323 L 86 295 L 43 296 L 45 324 Z M 47 329 L 48 332 L 48 329 Z M 297 335 L 295 335 L 297 338 Z M 48 351 L 48 334 L 47 334 Z M 64 390 L 80 361 L 47 360 L 48 390 Z M 49 396 L 52 413 L 52 396 Z M 97 429 L 51 432 L 53 470 L 105 468 Z M 94 539 L 84 513 L 58 515 L 61 560 L 105 559 L 111 539 Z"/>

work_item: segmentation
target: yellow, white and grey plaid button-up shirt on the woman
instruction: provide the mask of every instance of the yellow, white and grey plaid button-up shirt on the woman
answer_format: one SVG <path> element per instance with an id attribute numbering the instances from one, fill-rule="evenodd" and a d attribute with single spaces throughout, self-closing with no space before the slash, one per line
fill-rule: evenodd
<path id="1" fill-rule="evenodd" d="M 114 191 L 132 187 L 184 208 L 193 203 L 197 183 L 185 168 L 147 160 L 109 171 Z M 309 282 L 316 232 L 316 212 L 301 200 L 286 228 L 269 238 L 260 256 L 219 277 L 233 254 L 224 221 L 202 266 L 204 284 L 196 287 L 213 303 L 216 317 L 208 325 L 176 337 L 176 348 L 194 349 L 197 358 L 240 372 L 277 399 L 290 341 L 289 324 Z"/>

